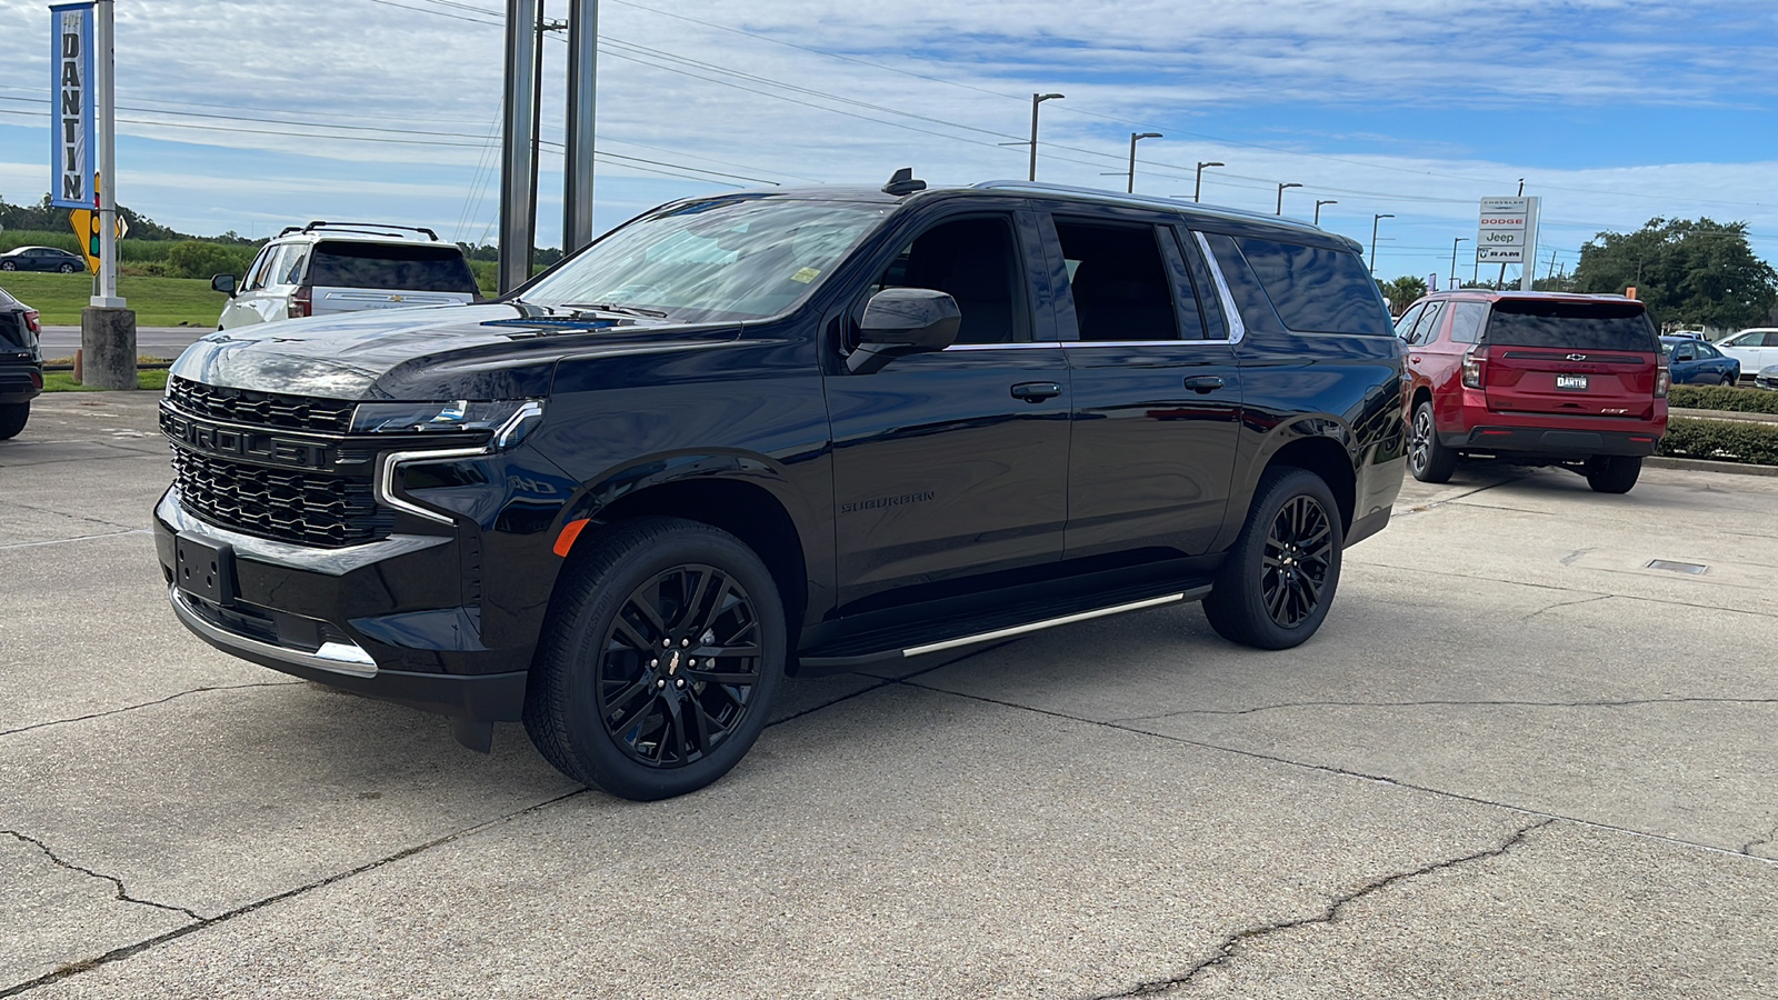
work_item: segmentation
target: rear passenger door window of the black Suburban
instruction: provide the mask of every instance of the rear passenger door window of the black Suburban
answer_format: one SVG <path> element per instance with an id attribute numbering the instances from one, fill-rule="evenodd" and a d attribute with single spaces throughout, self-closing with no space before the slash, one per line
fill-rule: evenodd
<path id="1" fill-rule="evenodd" d="M 1056 219 L 1081 340 L 1179 340 L 1173 281 L 1157 230 L 1143 224 Z M 1204 338 L 1197 301 L 1191 340 Z"/>

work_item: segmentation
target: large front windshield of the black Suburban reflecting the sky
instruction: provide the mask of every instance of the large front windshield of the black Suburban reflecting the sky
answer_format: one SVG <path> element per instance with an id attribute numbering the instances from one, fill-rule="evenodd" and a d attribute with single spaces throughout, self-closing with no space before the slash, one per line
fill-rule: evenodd
<path id="1" fill-rule="evenodd" d="M 891 208 L 761 196 L 674 205 L 608 233 L 523 299 L 654 310 L 679 322 L 775 317 L 804 301 Z"/>

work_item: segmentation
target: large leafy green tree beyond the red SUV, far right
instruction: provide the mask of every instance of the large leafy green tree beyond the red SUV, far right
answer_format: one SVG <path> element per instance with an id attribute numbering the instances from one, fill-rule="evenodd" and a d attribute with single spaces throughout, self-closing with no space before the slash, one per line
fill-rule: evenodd
<path id="1" fill-rule="evenodd" d="M 1650 219 L 1581 247 L 1574 290 L 1636 297 L 1662 322 L 1744 327 L 1778 306 L 1778 270 L 1753 256 L 1746 222 Z"/>

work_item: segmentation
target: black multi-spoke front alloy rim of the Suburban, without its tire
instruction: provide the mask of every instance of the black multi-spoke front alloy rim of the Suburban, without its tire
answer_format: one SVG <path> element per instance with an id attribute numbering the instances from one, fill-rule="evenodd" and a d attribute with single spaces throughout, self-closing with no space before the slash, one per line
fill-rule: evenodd
<path id="1" fill-rule="evenodd" d="M 759 683 L 759 612 L 715 566 L 674 566 L 612 619 L 594 671 L 599 719 L 644 767 L 685 767 L 747 721 Z"/>

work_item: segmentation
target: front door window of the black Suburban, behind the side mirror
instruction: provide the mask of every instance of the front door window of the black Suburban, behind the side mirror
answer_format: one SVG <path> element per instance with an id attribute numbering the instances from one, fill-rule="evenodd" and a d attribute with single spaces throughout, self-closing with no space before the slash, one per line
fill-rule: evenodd
<path id="1" fill-rule="evenodd" d="M 1028 279 L 1013 247 L 1010 217 L 941 222 L 907 242 L 869 292 L 932 288 L 948 294 L 964 315 L 957 343 L 1031 340 Z M 859 302 L 859 315 L 862 306 Z"/>

